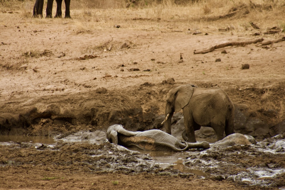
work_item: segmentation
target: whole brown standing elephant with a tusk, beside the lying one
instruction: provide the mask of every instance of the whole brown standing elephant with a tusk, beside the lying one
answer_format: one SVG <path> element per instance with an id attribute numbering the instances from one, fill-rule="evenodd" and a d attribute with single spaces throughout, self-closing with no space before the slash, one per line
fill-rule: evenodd
<path id="1" fill-rule="evenodd" d="M 166 96 L 166 132 L 171 134 L 171 118 L 174 111 L 183 109 L 186 141 L 196 142 L 195 130 L 201 126 L 212 127 L 217 140 L 234 133 L 234 105 L 227 93 L 220 88 L 198 88 L 195 85 L 182 85 L 171 89 Z"/>

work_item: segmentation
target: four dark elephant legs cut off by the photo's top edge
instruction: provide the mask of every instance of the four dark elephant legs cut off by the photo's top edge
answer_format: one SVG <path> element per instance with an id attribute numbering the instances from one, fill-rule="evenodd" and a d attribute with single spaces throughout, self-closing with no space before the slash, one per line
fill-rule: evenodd
<path id="1" fill-rule="evenodd" d="M 48 0 L 46 5 L 46 18 L 52 18 L 52 4 L 54 0 Z M 70 0 L 64 0 L 65 2 L 65 17 L 64 18 L 71 18 L 70 17 Z M 61 18 L 62 11 L 61 11 L 61 4 L 62 0 L 56 0 L 56 15 L 54 18 Z M 44 6 L 44 0 L 36 0 L 33 9 L 33 17 L 41 17 L 42 18 L 42 9 Z"/>

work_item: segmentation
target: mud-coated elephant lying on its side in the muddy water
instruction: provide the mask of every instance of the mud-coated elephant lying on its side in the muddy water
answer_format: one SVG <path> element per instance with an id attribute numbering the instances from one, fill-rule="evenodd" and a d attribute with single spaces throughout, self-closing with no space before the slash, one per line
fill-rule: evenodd
<path id="1" fill-rule="evenodd" d="M 176 137 L 161 130 L 128 131 L 122 125 L 112 125 L 107 129 L 107 139 L 109 142 L 125 147 L 137 147 L 141 150 L 149 151 L 185 151 L 191 148 L 207 149 L 209 143 L 183 142 Z"/>

